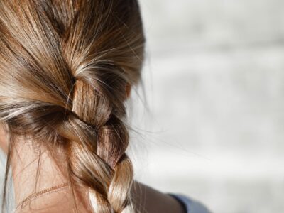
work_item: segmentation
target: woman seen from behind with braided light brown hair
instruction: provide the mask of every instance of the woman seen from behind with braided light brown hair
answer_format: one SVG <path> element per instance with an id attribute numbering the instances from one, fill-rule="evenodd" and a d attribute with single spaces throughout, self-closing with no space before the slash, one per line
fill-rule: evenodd
<path id="1" fill-rule="evenodd" d="M 125 101 L 145 45 L 135 0 L 0 1 L 0 34 L 13 212 L 207 211 L 133 180 Z"/>

